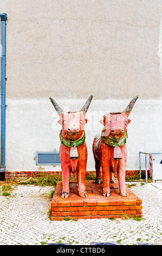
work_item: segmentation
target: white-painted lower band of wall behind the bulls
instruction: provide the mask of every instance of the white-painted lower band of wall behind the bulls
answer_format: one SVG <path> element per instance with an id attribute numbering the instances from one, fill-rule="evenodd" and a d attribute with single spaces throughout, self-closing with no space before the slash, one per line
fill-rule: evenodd
<path id="1" fill-rule="evenodd" d="M 78 111 L 87 100 L 54 99 L 66 111 Z M 102 115 L 109 111 L 123 111 L 131 100 L 92 100 L 87 112 L 88 123 L 85 125 L 87 170 L 94 170 L 92 143 L 94 136 L 101 133 L 103 126 L 99 121 Z M 35 160 L 37 152 L 59 151 L 59 115 L 48 98 L 7 99 L 6 104 L 6 170 L 38 170 Z M 139 151 L 162 151 L 161 116 L 161 100 L 138 99 L 135 103 L 129 115 L 132 121 L 127 127 L 127 169 L 139 169 Z M 144 162 L 141 164 L 145 169 Z M 61 170 L 60 165 L 42 167 L 46 170 Z"/>

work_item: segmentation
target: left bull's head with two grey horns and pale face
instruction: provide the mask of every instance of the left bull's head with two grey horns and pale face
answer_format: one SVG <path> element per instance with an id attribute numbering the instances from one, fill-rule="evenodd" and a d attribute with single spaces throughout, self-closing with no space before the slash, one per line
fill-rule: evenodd
<path id="1" fill-rule="evenodd" d="M 53 103 L 56 112 L 60 116 L 58 123 L 62 125 L 62 132 L 65 138 L 69 140 L 76 140 L 77 138 L 80 138 L 84 131 L 84 126 L 88 121 L 85 118 L 85 115 L 88 111 L 92 98 L 92 95 L 89 96 L 85 105 L 78 112 L 64 112 L 55 100 L 49 98 L 51 103 Z"/>

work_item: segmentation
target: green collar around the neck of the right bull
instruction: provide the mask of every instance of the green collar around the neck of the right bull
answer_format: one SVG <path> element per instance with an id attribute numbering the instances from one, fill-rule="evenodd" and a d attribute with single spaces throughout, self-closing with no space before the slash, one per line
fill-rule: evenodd
<path id="1" fill-rule="evenodd" d="M 127 130 L 126 130 L 126 134 L 125 134 L 124 138 L 121 138 L 121 139 L 118 139 L 118 140 L 114 139 L 113 136 L 111 138 L 106 137 L 103 130 L 102 130 L 101 134 L 103 134 L 103 136 L 101 136 L 102 141 L 105 142 L 105 144 L 107 144 L 109 146 L 112 146 L 112 147 L 123 146 L 126 143 L 127 138 L 128 138 Z"/>

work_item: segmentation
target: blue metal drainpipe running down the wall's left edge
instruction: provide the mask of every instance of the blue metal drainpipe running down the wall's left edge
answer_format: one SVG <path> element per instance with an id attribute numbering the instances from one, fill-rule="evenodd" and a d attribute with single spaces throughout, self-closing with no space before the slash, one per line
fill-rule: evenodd
<path id="1" fill-rule="evenodd" d="M 5 179 L 5 41 L 6 41 L 6 14 L 1 17 L 1 170 L 0 180 Z"/>

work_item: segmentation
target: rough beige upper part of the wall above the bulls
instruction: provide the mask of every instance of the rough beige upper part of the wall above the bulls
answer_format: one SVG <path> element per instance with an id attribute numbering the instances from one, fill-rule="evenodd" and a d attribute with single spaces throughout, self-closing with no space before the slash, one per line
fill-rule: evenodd
<path id="1" fill-rule="evenodd" d="M 159 98 L 162 1 L 0 0 L 7 97 Z"/>

